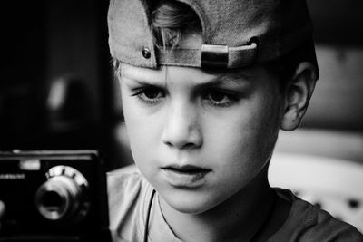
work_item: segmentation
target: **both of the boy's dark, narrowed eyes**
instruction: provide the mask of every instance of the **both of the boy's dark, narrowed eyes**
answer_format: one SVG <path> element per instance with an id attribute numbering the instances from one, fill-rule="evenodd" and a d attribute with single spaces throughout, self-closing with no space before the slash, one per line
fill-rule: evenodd
<path id="1" fill-rule="evenodd" d="M 151 106 L 158 104 L 159 102 L 162 101 L 162 98 L 166 96 L 165 92 L 161 88 L 154 86 L 144 86 L 141 88 L 134 89 L 132 90 L 132 92 L 133 92 L 132 96 L 137 97 L 142 102 Z M 152 94 L 156 94 L 156 97 L 155 98 L 147 97 L 146 94 L 147 92 L 153 92 Z M 221 101 L 213 101 L 211 98 L 211 95 L 213 94 L 220 95 L 220 97 L 222 97 Z M 204 90 L 203 92 L 201 92 L 201 97 L 205 102 L 208 102 L 209 104 L 211 104 L 213 107 L 216 108 L 230 107 L 231 105 L 239 101 L 239 95 L 237 93 L 217 88 Z M 225 99 L 227 100 L 223 101 Z"/>

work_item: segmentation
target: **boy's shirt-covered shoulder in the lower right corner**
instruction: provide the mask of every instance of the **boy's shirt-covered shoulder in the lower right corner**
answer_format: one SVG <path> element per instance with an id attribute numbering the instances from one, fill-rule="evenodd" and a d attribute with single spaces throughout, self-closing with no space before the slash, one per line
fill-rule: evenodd
<path id="1" fill-rule="evenodd" d="M 289 190 L 276 191 L 280 198 L 291 203 L 291 208 L 289 217 L 275 237 L 285 237 L 287 241 L 363 241 L 363 236 L 357 228 L 297 198 Z"/>

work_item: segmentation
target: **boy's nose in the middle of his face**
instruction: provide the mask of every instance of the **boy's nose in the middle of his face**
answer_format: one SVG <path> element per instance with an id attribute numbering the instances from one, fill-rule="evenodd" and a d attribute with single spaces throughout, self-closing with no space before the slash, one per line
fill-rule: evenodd
<path id="1" fill-rule="evenodd" d="M 195 149 L 203 142 L 199 113 L 192 103 L 173 103 L 166 113 L 162 142 L 177 149 Z"/>

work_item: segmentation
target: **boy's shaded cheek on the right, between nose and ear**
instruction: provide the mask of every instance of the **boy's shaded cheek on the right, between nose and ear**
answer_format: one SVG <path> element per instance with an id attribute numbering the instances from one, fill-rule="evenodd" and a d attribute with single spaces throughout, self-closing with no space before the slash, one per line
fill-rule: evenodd
<path id="1" fill-rule="evenodd" d="M 270 159 L 279 132 L 279 111 L 274 102 L 250 102 L 242 109 L 230 113 L 228 121 L 217 122 L 207 134 L 211 149 L 230 160 L 233 172 L 254 173 Z"/>

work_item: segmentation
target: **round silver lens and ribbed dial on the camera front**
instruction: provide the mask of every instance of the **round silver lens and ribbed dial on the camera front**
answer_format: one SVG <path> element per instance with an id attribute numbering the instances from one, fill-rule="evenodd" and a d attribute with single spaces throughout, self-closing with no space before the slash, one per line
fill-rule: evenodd
<path id="1" fill-rule="evenodd" d="M 35 194 L 35 205 L 49 220 L 84 218 L 88 212 L 88 182 L 77 169 L 55 166 L 46 173 L 47 180 Z"/>

